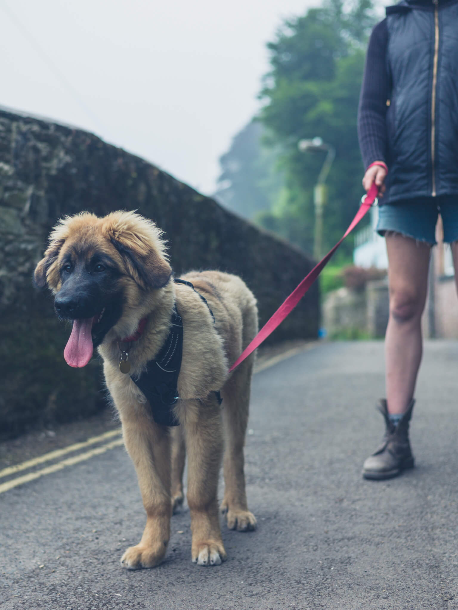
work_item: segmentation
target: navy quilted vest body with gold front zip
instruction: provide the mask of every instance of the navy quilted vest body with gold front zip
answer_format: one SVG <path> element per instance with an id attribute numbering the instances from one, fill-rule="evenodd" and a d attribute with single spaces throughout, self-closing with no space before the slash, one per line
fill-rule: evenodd
<path id="1" fill-rule="evenodd" d="M 390 203 L 458 195 L 458 0 L 387 8 Z"/>

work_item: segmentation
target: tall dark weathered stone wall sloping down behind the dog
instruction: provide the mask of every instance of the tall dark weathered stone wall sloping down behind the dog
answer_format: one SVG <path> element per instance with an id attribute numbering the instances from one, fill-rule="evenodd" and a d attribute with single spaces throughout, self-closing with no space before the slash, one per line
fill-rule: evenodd
<path id="1" fill-rule="evenodd" d="M 103 408 L 98 361 L 82 370 L 65 364 L 69 330 L 31 276 L 56 218 L 116 209 L 136 209 L 164 229 L 176 274 L 241 275 L 261 323 L 312 266 L 298 249 L 139 157 L 79 129 L 0 109 L 0 437 Z M 271 342 L 316 337 L 318 322 L 315 285 Z"/>

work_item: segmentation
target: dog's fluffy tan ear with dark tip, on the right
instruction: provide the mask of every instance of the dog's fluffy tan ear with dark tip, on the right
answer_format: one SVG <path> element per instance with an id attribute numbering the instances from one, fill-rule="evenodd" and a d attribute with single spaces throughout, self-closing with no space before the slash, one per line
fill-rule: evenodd
<path id="1" fill-rule="evenodd" d="M 122 256 L 126 271 L 144 289 L 162 288 L 172 267 L 167 260 L 162 231 L 134 212 L 114 212 L 109 239 Z"/>

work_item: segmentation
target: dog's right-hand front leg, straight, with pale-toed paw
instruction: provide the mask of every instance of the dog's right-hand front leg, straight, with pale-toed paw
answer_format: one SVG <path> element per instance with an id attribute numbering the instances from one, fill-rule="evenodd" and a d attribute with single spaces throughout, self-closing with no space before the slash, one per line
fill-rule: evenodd
<path id="1" fill-rule="evenodd" d="M 217 490 L 223 452 L 221 409 L 214 392 L 183 401 L 178 414 L 187 452 L 187 504 L 191 511 L 191 558 L 219 565 L 226 558 L 219 525 Z"/>

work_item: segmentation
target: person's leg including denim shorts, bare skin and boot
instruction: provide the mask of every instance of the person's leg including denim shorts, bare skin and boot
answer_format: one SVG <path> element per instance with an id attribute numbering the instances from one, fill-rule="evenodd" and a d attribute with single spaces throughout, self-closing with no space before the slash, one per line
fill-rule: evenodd
<path id="1" fill-rule="evenodd" d="M 387 479 L 413 467 L 409 423 L 421 362 L 421 314 L 437 215 L 435 197 L 405 199 L 379 209 L 377 231 L 387 242 L 390 289 L 385 335 L 387 400 L 380 400 L 378 406 L 385 420 L 385 435 L 377 451 L 364 462 L 366 479 Z"/>

